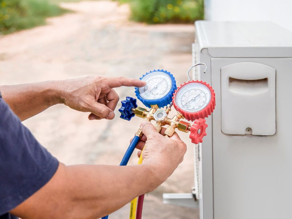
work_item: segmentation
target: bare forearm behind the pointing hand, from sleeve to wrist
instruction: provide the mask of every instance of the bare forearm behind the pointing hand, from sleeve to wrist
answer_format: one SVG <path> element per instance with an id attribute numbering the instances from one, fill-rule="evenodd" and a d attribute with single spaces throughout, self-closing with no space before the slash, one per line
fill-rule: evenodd
<path id="1" fill-rule="evenodd" d="M 21 121 L 58 103 L 56 81 L 0 86 L 2 98 Z"/>

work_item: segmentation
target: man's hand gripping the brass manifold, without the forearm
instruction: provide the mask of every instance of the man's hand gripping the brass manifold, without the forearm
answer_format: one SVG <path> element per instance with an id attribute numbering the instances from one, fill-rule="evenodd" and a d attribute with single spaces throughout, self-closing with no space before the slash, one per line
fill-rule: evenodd
<path id="1" fill-rule="evenodd" d="M 159 134 L 156 128 L 147 120 L 140 124 L 143 136 L 136 148 L 143 150 L 143 164 L 151 165 L 157 173 L 160 183 L 164 182 L 183 161 L 187 151 L 186 144 L 175 132 L 171 138 L 164 136 L 165 128 Z M 140 157 L 141 151 L 138 152 Z M 158 185 L 157 185 L 158 186 Z"/>

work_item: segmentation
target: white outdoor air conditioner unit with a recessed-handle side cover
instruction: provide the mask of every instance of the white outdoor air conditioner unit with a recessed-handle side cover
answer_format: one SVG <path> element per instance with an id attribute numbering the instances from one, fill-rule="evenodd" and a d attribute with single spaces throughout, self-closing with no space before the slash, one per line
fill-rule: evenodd
<path id="1" fill-rule="evenodd" d="M 288 219 L 292 33 L 271 22 L 197 21 L 193 78 L 216 107 L 197 148 L 201 219 Z"/>

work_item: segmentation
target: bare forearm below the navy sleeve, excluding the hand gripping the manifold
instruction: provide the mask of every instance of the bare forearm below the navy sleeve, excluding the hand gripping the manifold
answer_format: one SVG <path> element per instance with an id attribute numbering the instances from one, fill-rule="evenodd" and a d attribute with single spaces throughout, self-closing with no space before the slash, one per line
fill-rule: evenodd
<path id="1" fill-rule="evenodd" d="M 165 180 L 158 176 L 148 164 L 60 164 L 53 178 L 11 213 L 23 219 L 100 218 L 154 190 Z"/>

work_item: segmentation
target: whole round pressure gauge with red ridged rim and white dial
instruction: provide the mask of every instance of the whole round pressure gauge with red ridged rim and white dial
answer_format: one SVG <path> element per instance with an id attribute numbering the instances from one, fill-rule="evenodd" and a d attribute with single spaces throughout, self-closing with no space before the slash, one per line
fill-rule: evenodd
<path id="1" fill-rule="evenodd" d="M 215 108 L 215 93 L 205 82 L 189 81 L 175 91 L 173 103 L 177 111 L 193 121 L 211 115 Z"/>

